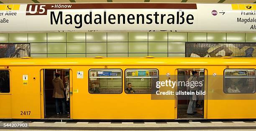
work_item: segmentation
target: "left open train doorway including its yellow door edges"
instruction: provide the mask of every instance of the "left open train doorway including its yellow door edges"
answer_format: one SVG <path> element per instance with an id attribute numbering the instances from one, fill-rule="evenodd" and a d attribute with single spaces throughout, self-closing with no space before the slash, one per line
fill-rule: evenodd
<path id="1" fill-rule="evenodd" d="M 53 82 L 55 73 L 59 72 L 64 85 L 63 99 L 53 98 Z M 41 69 L 41 118 L 42 119 L 72 119 L 72 70 L 71 69 Z M 57 104 L 56 104 L 57 103 Z M 58 105 L 58 106 L 57 106 Z M 57 114 L 57 107 L 60 113 Z M 63 108 L 64 107 L 64 108 Z M 66 111 L 64 111 L 66 110 Z M 66 113 L 65 113 L 66 112 Z"/>

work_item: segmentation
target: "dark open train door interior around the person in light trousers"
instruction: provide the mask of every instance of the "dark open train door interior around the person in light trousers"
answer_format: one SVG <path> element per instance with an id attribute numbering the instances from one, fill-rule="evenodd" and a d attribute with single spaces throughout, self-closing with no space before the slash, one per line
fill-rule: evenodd
<path id="1" fill-rule="evenodd" d="M 194 98 L 192 98 L 192 95 L 187 94 L 177 94 L 176 95 L 176 108 L 177 108 L 177 119 L 203 119 L 204 118 L 204 111 L 205 111 L 205 94 L 203 92 L 205 91 L 205 69 L 178 69 L 177 70 L 177 80 L 187 82 L 190 77 L 192 77 L 192 71 L 197 71 L 197 81 L 201 84 L 197 87 L 197 92 L 201 92 L 201 94 L 196 95 Z M 177 92 L 185 92 L 188 91 L 188 87 L 185 84 L 179 84 L 177 86 L 177 89 L 175 89 Z M 196 94 L 196 93 L 195 93 Z M 189 107 L 189 101 L 190 99 L 195 99 L 195 110 L 188 111 Z"/>

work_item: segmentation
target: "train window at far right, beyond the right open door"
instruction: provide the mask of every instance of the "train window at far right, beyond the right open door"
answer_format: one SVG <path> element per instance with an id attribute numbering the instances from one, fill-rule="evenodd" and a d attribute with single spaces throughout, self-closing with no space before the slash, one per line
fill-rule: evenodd
<path id="1" fill-rule="evenodd" d="M 255 69 L 225 69 L 225 93 L 255 93 Z"/>

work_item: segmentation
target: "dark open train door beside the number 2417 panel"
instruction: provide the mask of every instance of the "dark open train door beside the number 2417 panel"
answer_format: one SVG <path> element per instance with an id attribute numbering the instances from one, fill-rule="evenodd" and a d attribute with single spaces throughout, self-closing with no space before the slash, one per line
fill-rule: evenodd
<path id="1" fill-rule="evenodd" d="M 44 110 L 44 116 L 42 118 L 46 119 L 70 119 L 70 110 L 71 110 L 71 96 L 72 92 L 72 76 L 70 75 L 70 69 L 43 69 L 43 80 L 41 79 L 41 88 L 43 88 L 43 92 L 41 92 L 42 97 L 42 106 Z M 59 75 L 59 79 L 56 78 Z M 59 84 L 63 83 L 64 91 L 59 90 L 57 92 L 61 92 L 63 94 L 55 94 L 54 93 L 54 83 Z M 64 97 L 64 98 L 54 98 L 54 97 Z"/>

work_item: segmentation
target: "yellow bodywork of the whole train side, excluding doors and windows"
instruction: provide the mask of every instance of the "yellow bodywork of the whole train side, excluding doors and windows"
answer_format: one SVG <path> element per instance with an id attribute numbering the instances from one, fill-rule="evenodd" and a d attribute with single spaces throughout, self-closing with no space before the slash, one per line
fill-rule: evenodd
<path id="1" fill-rule="evenodd" d="M 233 59 L 233 58 L 232 58 Z M 40 69 L 72 69 L 72 82 L 71 85 L 77 92 L 71 96 L 71 116 L 73 119 L 175 119 L 177 115 L 174 110 L 174 100 L 151 100 L 151 94 L 125 94 L 123 91 L 121 94 L 90 94 L 88 92 L 88 70 L 89 69 L 104 69 L 105 65 L 108 65 L 108 69 L 122 69 L 123 70 L 123 89 L 125 87 L 124 72 L 125 69 L 159 69 L 159 75 L 165 75 L 167 72 L 175 74 L 175 69 L 207 69 L 207 99 L 205 107 L 206 119 L 255 119 L 256 118 L 256 100 L 236 100 L 226 99 L 228 97 L 248 97 L 256 98 L 254 94 L 225 94 L 223 92 L 223 75 L 224 69 L 227 67 L 225 64 L 229 62 L 230 69 L 255 69 L 256 66 L 253 62 L 255 59 L 178 59 L 172 62 L 177 65 L 168 65 L 168 59 L 155 59 L 151 60 L 156 62 L 154 64 L 148 64 L 150 62 L 145 59 L 127 59 L 130 63 L 113 64 L 118 59 L 110 59 L 109 65 L 104 63 L 106 59 L 98 61 L 96 59 L 89 59 L 88 61 L 102 62 L 99 64 L 88 64 L 86 66 L 72 65 L 78 63 L 78 60 L 71 59 L 30 59 L 28 61 L 17 59 L 17 63 L 33 63 L 41 64 L 40 62 L 49 62 L 48 65 L 10 65 L 10 94 L 0 94 L 0 118 L 13 118 L 13 119 L 41 119 L 41 87 L 40 87 Z M 85 62 L 84 59 L 79 59 Z M 86 59 L 87 60 L 87 59 Z M 133 65 L 134 62 L 145 62 L 137 65 Z M 179 61 L 188 61 L 178 63 Z M 193 61 L 192 61 L 193 60 Z M 198 60 L 197 63 L 189 63 Z M 13 60 L 15 61 L 15 60 Z M 20 61 L 20 62 L 19 62 Z M 38 62 L 40 61 L 40 62 Z M 56 65 L 58 62 L 64 62 L 64 65 Z M 5 65 L 9 65 L 9 60 L 5 60 Z M 37 63 L 38 62 L 38 63 Z M 51 64 L 51 62 L 55 62 Z M 70 62 L 70 63 L 68 63 Z M 87 61 L 86 61 L 87 62 Z M 112 62 L 112 64 L 111 64 Z M 161 64 L 157 64 L 161 63 Z M 200 63 L 201 62 L 201 63 Z M 204 65 L 204 62 L 207 63 Z M 249 63 L 248 63 L 249 62 Z M 14 62 L 15 63 L 15 62 Z M 172 63 L 172 64 L 173 64 Z M 219 64 L 220 63 L 220 64 Z M 222 63 L 222 64 L 221 64 Z M 239 63 L 241 65 L 239 65 Z M 59 63 L 58 63 L 59 64 Z M 70 64 L 70 65 L 65 65 Z M 79 64 L 79 63 L 78 63 Z M 186 65 L 187 64 L 187 65 Z M 236 65 L 236 66 L 234 66 Z M 77 79 L 77 71 L 84 71 L 84 78 Z M 213 78 L 213 73 L 217 74 L 217 77 Z M 23 75 L 28 75 L 28 85 L 23 85 Z M 35 77 L 35 79 L 33 79 Z M 73 83 L 73 84 L 72 84 Z M 71 89 L 72 89 L 71 88 Z M 213 93 L 212 93 L 213 92 Z M 210 99 L 211 97 L 217 97 L 218 99 Z M 25 111 L 25 114 L 24 114 Z M 30 114 L 26 114 L 26 111 L 30 111 Z M 42 115 L 43 116 L 43 115 Z"/>

